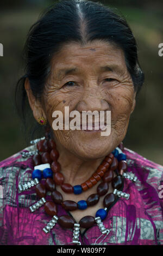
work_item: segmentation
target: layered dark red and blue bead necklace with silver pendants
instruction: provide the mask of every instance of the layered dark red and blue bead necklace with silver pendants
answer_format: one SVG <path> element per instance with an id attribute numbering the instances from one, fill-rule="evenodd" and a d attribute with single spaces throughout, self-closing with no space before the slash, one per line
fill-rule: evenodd
<path id="1" fill-rule="evenodd" d="M 57 161 L 59 152 L 57 151 L 53 139 L 49 139 L 48 136 L 46 136 L 30 141 L 30 143 L 33 145 L 36 144 L 37 150 L 22 152 L 22 157 L 33 157 L 34 170 L 32 173 L 32 180 L 24 184 L 19 184 L 18 189 L 22 192 L 31 187 L 35 187 L 36 195 L 40 200 L 29 207 L 30 211 L 34 212 L 44 205 L 47 215 L 52 216 L 51 221 L 49 221 L 46 227 L 43 228 L 43 231 L 46 234 L 49 233 L 56 223 L 59 223 L 62 228 L 73 228 L 72 243 L 75 245 L 81 245 L 79 241 L 80 227 L 90 228 L 97 224 L 102 235 L 105 235 L 106 237 L 109 234 L 109 229 L 104 227 L 102 221 L 107 216 L 108 208 L 114 204 L 118 197 L 122 197 L 127 200 L 129 199 L 129 194 L 122 192 L 123 178 L 128 178 L 133 182 L 136 181 L 135 176 L 130 176 L 126 173 L 126 154 L 123 153 L 122 142 L 112 153 L 104 158 L 103 162 L 98 166 L 97 170 L 88 180 L 82 184 L 77 184 L 76 186 L 64 183 L 64 175 L 61 173 L 61 166 Z M 115 177 L 114 171 L 116 173 Z M 45 184 L 40 182 L 42 178 L 45 180 Z M 81 194 L 95 186 L 95 184 L 100 180 L 102 180 L 102 182 L 97 187 L 97 193 L 91 194 L 87 200 L 80 200 L 78 202 L 63 200 L 62 194 L 57 190 L 57 186 L 60 186 L 65 193 Z M 109 183 L 111 183 L 114 191 L 113 193 L 106 194 L 109 189 Z M 52 201 L 46 200 L 46 194 L 48 192 L 51 192 Z M 66 211 L 74 211 L 77 209 L 85 210 L 87 207 L 96 205 L 100 197 L 103 195 L 105 195 L 103 200 L 104 209 L 97 210 L 95 217 L 85 216 L 80 219 L 79 223 L 76 223 L 74 218 L 71 216 L 57 216 L 57 206 L 59 204 L 64 207 Z M 98 237 L 98 239 L 100 237 Z"/>

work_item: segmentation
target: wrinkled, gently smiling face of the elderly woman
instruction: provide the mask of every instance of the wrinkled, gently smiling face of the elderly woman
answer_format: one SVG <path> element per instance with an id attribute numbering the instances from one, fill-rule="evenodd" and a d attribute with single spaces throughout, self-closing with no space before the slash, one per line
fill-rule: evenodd
<path id="1" fill-rule="evenodd" d="M 65 74 L 61 69 L 75 70 Z M 81 121 L 84 110 L 111 111 L 111 133 L 101 136 L 98 130 L 53 130 L 59 144 L 82 159 L 104 157 L 114 150 L 126 135 L 135 107 L 134 86 L 123 51 L 99 40 L 83 47 L 77 43 L 62 47 L 52 59 L 42 96 L 41 107 L 51 127 L 53 112 L 59 110 L 64 116 L 65 106 L 70 112 L 80 112 Z"/>

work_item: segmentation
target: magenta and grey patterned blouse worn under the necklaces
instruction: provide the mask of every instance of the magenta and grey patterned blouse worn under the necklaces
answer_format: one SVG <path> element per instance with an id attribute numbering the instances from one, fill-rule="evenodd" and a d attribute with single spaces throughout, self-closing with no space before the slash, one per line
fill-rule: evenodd
<path id="1" fill-rule="evenodd" d="M 23 151 L 32 151 L 35 145 Z M 48 234 L 43 228 L 51 220 L 43 206 L 31 213 L 29 206 L 39 198 L 34 187 L 18 192 L 18 185 L 32 178 L 32 157 L 23 158 L 20 151 L 0 163 L 0 244 L 1 245 L 68 245 L 73 229 L 57 223 Z M 124 178 L 123 192 L 129 200 L 118 198 L 111 206 L 103 224 L 110 233 L 102 245 L 163 245 L 163 166 L 124 148 L 128 173 L 136 182 Z M 47 196 L 48 197 L 48 196 Z M 58 216 L 70 215 L 61 205 Z M 92 213 L 93 216 L 93 213 Z M 101 236 L 97 224 L 80 233 L 81 245 L 93 245 Z M 99 241 L 100 242 L 100 241 Z M 69 245 L 73 245 L 72 243 Z"/>

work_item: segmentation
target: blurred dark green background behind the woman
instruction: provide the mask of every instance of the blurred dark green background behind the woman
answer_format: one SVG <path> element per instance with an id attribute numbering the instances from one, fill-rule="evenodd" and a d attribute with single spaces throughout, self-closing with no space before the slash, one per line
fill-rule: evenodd
<path id="1" fill-rule="evenodd" d="M 0 57 L 0 161 L 29 145 L 16 113 L 14 89 L 23 74 L 22 50 L 29 28 L 40 12 L 54 2 L 7 0 L 0 3 L 0 43 L 4 47 L 4 56 Z M 125 146 L 163 165 L 163 57 L 158 55 L 158 45 L 163 43 L 163 2 L 95 2 L 115 7 L 126 17 L 137 40 L 139 61 L 145 72 L 145 85 L 131 115 Z"/>

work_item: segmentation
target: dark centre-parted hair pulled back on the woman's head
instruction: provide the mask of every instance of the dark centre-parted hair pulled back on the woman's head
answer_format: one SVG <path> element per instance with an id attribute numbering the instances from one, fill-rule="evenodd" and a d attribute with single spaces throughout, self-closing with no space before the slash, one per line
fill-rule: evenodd
<path id="1" fill-rule="evenodd" d="M 29 79 L 34 96 L 40 97 L 48 78 L 52 56 L 65 43 L 74 41 L 84 45 L 96 39 L 112 42 L 123 50 L 135 91 L 140 91 L 144 75 L 137 58 L 134 35 L 124 17 L 99 2 L 57 1 L 42 13 L 27 35 L 23 51 L 26 74 L 18 80 L 15 92 L 16 105 L 22 110 L 25 126 L 28 105 L 25 79 Z"/>

